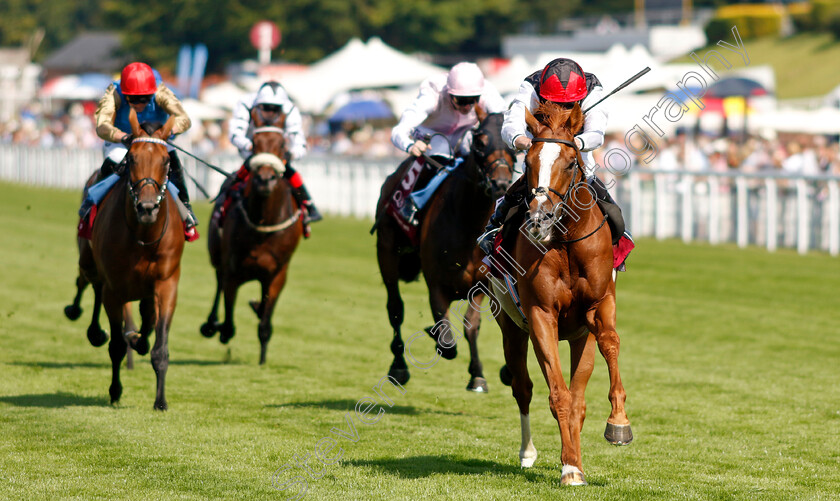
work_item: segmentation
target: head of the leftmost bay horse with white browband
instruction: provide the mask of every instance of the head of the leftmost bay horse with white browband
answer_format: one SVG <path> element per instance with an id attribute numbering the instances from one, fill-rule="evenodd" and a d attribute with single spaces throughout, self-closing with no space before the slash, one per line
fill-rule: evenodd
<path id="1" fill-rule="evenodd" d="M 141 127 L 132 109 L 129 123 L 134 141 L 126 153 L 128 193 L 137 212 L 137 220 L 141 224 L 153 224 L 166 196 L 166 182 L 169 180 L 166 140 L 172 133 L 175 118 L 170 117 L 163 126 L 144 123 Z"/>

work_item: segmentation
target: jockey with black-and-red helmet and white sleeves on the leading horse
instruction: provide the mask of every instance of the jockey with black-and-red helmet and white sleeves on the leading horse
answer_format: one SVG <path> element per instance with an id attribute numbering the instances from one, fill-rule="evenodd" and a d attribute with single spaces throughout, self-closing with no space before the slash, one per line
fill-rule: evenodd
<path id="1" fill-rule="evenodd" d="M 592 73 L 585 73 L 580 65 L 571 59 L 555 59 L 545 65 L 542 70 L 529 75 L 522 82 L 513 103 L 505 112 L 502 138 L 515 150 L 527 150 L 531 147 L 531 133 L 528 132 L 525 124 L 526 109 L 533 113 L 540 103 L 545 101 L 558 103 L 564 107 L 573 107 L 575 104 L 579 104 L 581 109 L 585 109 L 587 106 L 597 103 L 602 97 L 604 97 L 604 88 L 601 86 L 598 77 Z M 575 136 L 575 144 L 581 152 L 586 171 L 591 171 L 595 167 L 592 150 L 604 144 L 606 127 L 607 107 L 604 103 L 592 108 L 584 115 L 583 129 Z M 597 177 L 590 176 L 588 181 L 598 195 L 599 202 L 604 201 L 606 204 L 618 208 L 606 187 Z M 525 189 L 526 184 L 524 176 L 522 176 L 511 185 L 505 196 L 498 202 L 496 212 L 490 217 L 490 222 L 484 234 L 478 238 L 479 247 L 485 253 L 489 254 L 492 251 L 496 233 L 498 233 L 507 217 L 508 211 L 522 202 Z M 610 211 L 615 212 L 612 209 Z M 616 216 L 611 214 L 611 219 L 621 219 L 620 214 L 619 209 Z M 613 235 L 613 240 L 617 241 L 626 232 L 624 231 L 623 219 L 620 222 L 615 222 L 615 224 L 618 224 L 616 231 L 619 235 Z"/>

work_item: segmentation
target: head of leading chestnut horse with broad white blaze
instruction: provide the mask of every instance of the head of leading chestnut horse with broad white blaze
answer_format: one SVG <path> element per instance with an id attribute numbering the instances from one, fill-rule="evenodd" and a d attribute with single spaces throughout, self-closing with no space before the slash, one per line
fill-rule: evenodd
<path id="1" fill-rule="evenodd" d="M 577 197 L 574 192 L 586 176 L 575 145 L 575 134 L 583 127 L 583 112 L 546 101 L 536 110 L 537 120 L 526 110 L 525 121 L 534 136 L 525 155 L 528 181 L 528 214 L 530 233 L 545 243 L 551 238 L 551 227 L 563 217 Z"/>

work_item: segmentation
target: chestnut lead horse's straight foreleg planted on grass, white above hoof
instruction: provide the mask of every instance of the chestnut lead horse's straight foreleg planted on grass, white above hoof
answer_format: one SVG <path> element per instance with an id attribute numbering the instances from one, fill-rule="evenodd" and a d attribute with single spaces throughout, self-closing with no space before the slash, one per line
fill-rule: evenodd
<path id="1" fill-rule="evenodd" d="M 540 307 L 528 309 L 528 324 L 531 327 L 531 340 L 534 352 L 540 364 L 545 382 L 548 384 L 548 402 L 551 414 L 560 427 L 563 472 L 560 483 L 563 485 L 583 485 L 583 465 L 580 454 L 573 447 L 569 418 L 572 414 L 572 392 L 563 379 L 560 366 L 560 351 L 557 346 L 557 313 L 544 311 Z"/>

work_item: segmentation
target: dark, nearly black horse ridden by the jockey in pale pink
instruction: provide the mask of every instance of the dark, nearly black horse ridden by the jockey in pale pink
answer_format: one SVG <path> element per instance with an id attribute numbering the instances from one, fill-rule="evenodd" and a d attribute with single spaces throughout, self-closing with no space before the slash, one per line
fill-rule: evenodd
<path id="1" fill-rule="evenodd" d="M 463 165 L 443 181 L 428 202 L 419 228 L 419 245 L 413 247 L 394 218 L 382 215 L 397 184 L 415 161 L 406 159 L 396 172 L 382 185 L 377 205 L 381 217 L 376 238 L 379 272 L 388 293 L 388 318 L 394 330 L 391 352 L 394 360 L 388 375 L 400 384 L 408 382 L 410 373 L 404 356 L 401 335 L 404 307 L 400 296 L 399 281 L 415 280 L 420 271 L 429 289 L 429 304 L 435 326 L 449 320 L 452 301 L 469 299 L 481 304 L 483 294 L 468 298 L 468 293 L 479 282 L 486 283 L 486 267 L 481 264 L 483 254 L 476 246 L 476 239 L 493 211 L 493 202 L 511 184 L 515 153 L 501 136 L 503 115 L 486 114 L 476 107 L 479 126 L 473 131 L 470 153 Z M 487 391 L 483 367 L 478 356 L 478 328 L 480 311 L 467 308 L 464 314 L 464 334 L 470 347 L 470 381 L 467 390 Z M 451 325 L 451 324 L 450 324 Z M 430 327 L 426 332 L 435 339 L 440 356 L 453 359 L 457 355 L 455 339 L 450 329 Z"/>

